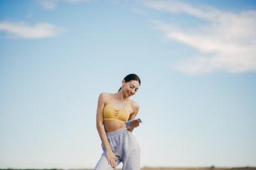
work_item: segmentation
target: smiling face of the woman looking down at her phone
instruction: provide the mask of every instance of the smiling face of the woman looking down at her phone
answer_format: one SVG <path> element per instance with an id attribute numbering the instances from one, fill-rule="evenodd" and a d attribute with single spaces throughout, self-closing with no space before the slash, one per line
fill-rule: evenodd
<path id="1" fill-rule="evenodd" d="M 125 80 L 122 81 L 123 83 L 123 92 L 126 97 L 131 97 L 132 95 L 136 94 L 136 92 L 139 90 L 140 83 L 136 80 L 131 80 L 128 82 L 125 82 Z"/>

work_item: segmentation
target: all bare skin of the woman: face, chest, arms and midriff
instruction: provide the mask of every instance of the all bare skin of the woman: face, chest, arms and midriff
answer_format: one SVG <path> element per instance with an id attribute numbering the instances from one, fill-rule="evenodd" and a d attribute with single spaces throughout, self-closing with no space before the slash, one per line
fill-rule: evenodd
<path id="1" fill-rule="evenodd" d="M 99 95 L 98 99 L 98 106 L 97 106 L 97 116 L 96 116 L 96 123 L 97 123 L 97 131 L 99 132 L 100 139 L 106 148 L 106 157 L 108 159 L 108 164 L 111 164 L 113 168 L 116 168 L 116 156 L 115 153 L 113 153 L 111 145 L 109 144 L 106 132 L 113 132 L 118 129 L 121 129 L 122 127 L 125 127 L 124 123 L 116 122 L 113 120 L 104 120 L 103 117 L 103 109 L 106 104 L 109 103 L 109 99 L 111 99 L 111 104 L 113 105 L 113 108 L 119 109 L 124 108 L 124 106 L 127 104 L 127 102 L 131 99 L 129 97 L 136 94 L 140 87 L 140 83 L 136 80 L 131 80 L 128 82 L 125 82 L 125 80 L 122 80 L 122 89 L 117 92 L 116 94 L 109 94 L 102 92 Z M 122 103 L 122 97 L 123 96 L 123 103 Z M 129 111 L 130 116 L 129 120 L 133 120 L 139 111 L 139 104 L 135 101 L 132 101 L 127 106 L 127 111 Z M 136 121 L 133 122 L 132 125 L 127 126 L 127 130 L 132 132 L 135 127 L 138 127 L 140 125 L 140 121 L 136 119 Z"/>

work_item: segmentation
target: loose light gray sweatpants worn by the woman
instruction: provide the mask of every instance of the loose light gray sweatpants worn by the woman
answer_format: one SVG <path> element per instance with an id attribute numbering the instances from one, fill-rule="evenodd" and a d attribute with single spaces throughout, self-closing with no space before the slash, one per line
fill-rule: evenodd
<path id="1" fill-rule="evenodd" d="M 132 132 L 125 127 L 117 131 L 107 132 L 109 144 L 118 160 L 116 165 L 123 162 L 123 170 L 140 170 L 140 145 L 134 138 Z M 113 170 L 106 157 L 106 148 L 102 145 L 103 153 L 95 170 Z"/>

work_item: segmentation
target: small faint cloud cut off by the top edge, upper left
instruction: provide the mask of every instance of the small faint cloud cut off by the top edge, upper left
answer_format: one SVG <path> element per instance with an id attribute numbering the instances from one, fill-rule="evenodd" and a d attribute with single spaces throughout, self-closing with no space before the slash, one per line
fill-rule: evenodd
<path id="1" fill-rule="evenodd" d="M 91 1 L 91 0 L 38 0 L 38 3 L 45 10 L 54 10 L 57 4 L 61 2 L 78 4 L 78 3 L 88 2 L 88 1 Z"/>

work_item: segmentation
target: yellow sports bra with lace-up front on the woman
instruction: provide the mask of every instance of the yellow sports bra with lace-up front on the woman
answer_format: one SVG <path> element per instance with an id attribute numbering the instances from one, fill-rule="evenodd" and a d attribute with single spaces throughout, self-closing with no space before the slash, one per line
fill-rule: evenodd
<path id="1" fill-rule="evenodd" d="M 113 108 L 111 103 L 106 104 L 106 106 L 103 109 L 104 120 L 114 120 L 116 122 L 121 123 L 126 122 L 129 119 L 130 113 L 125 108 L 128 106 L 129 103 L 130 99 L 124 108 L 118 110 Z"/>

